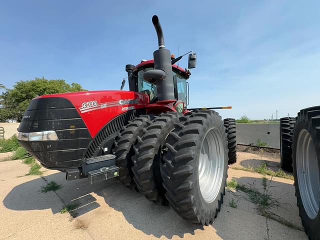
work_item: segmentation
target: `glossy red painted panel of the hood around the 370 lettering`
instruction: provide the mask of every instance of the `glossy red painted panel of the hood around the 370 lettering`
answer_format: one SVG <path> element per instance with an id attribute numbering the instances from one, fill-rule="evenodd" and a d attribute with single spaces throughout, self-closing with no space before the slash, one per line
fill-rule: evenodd
<path id="1" fill-rule="evenodd" d="M 117 90 L 100 90 L 100 91 L 81 91 L 81 92 L 69 92 L 69 93 L 59 93 L 51 95 L 38 96 L 36 98 L 45 97 L 64 97 L 68 99 L 76 108 L 79 115 L 84 121 L 84 124 L 89 130 L 91 137 L 94 137 L 99 130 L 110 120 L 116 116 L 124 113 L 127 110 L 123 110 L 122 107 L 134 106 L 134 109 L 144 108 L 149 102 L 149 98 L 144 93 L 134 92 L 134 91 L 117 91 Z M 111 105 L 111 102 L 119 102 L 119 100 L 125 99 L 137 99 L 137 103 L 122 104 L 116 106 Z M 95 110 L 80 112 L 80 107 L 82 107 L 83 102 L 97 101 L 97 103 L 106 103 L 106 107 L 98 108 Z M 113 104 L 114 105 L 114 104 Z"/>

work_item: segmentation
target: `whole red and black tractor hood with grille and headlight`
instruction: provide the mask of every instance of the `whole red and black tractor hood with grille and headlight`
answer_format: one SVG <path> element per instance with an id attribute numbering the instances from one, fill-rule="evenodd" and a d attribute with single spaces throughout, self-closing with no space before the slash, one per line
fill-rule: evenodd
<path id="1" fill-rule="evenodd" d="M 148 96 L 133 91 L 83 91 L 35 97 L 18 127 L 20 144 L 42 165 L 65 171 L 105 148 Z"/>

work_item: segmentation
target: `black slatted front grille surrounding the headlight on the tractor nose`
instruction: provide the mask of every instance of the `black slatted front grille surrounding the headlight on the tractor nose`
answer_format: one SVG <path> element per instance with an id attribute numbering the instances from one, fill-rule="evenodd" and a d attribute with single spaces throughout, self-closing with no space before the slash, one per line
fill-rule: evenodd
<path id="1" fill-rule="evenodd" d="M 72 103 L 62 97 L 33 99 L 18 127 L 19 132 L 55 130 L 58 140 L 19 141 L 48 168 L 79 167 L 91 141 L 83 120 Z"/>

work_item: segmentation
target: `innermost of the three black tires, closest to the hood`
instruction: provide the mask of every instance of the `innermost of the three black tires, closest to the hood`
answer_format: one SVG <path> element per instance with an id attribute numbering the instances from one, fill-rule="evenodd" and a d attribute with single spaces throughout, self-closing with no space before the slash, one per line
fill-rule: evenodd
<path id="1" fill-rule="evenodd" d="M 119 178 L 123 185 L 136 188 L 133 180 L 131 157 L 134 154 L 133 145 L 137 138 L 144 134 L 144 127 L 151 124 L 152 115 L 140 115 L 129 122 L 115 140 L 115 163 L 119 167 Z"/>

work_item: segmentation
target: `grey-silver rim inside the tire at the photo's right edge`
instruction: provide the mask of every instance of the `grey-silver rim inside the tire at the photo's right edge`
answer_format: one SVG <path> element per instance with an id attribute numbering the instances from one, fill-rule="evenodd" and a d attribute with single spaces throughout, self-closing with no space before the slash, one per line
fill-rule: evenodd
<path id="1" fill-rule="evenodd" d="M 296 145 L 296 172 L 301 200 L 309 218 L 314 219 L 319 211 L 319 167 L 310 133 L 302 129 Z"/>

